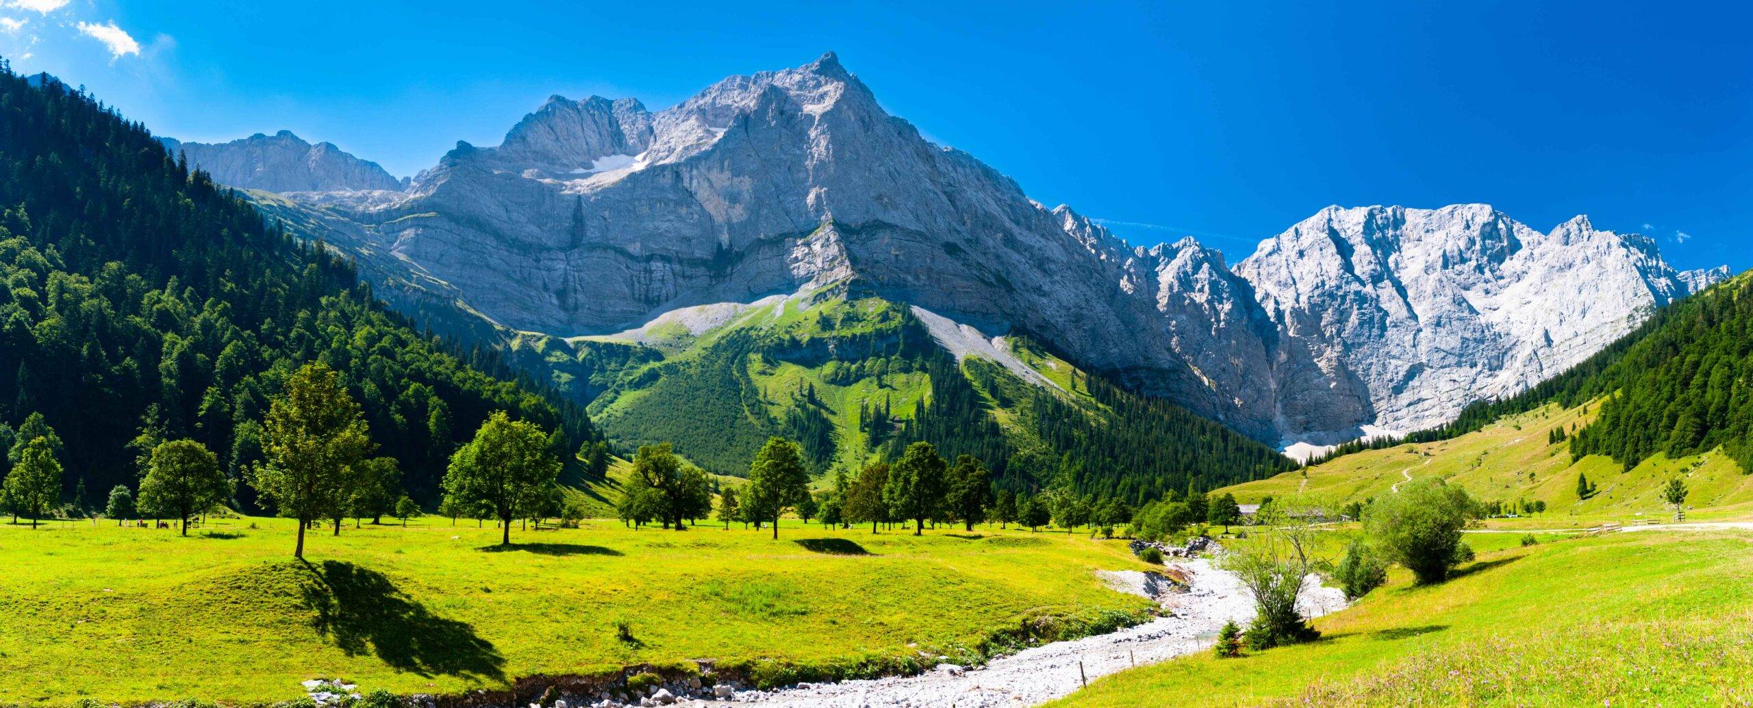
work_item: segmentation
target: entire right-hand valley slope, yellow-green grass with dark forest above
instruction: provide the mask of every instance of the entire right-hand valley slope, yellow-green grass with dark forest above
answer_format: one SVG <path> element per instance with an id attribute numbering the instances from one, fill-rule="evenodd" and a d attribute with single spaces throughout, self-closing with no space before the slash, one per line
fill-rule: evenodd
<path id="1" fill-rule="evenodd" d="M 1376 443 L 1227 491 L 1243 501 L 1295 491 L 1364 501 L 1436 475 L 1488 501 L 1543 501 L 1567 522 L 1634 520 L 1665 515 L 1658 491 L 1679 477 L 1688 506 L 1744 515 L 1753 512 L 1749 380 L 1753 273 L 1742 273 L 1553 380 L 1413 436 L 1420 442 Z"/>

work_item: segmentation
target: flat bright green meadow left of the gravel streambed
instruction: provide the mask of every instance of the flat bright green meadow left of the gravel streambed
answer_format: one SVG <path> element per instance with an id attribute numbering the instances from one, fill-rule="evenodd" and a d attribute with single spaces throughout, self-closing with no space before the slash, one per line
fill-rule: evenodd
<path id="1" fill-rule="evenodd" d="M 973 659 L 1146 610 L 1094 570 L 1145 568 L 1082 535 L 766 531 L 699 526 L 512 531 L 472 520 L 342 529 L 289 557 L 284 519 L 189 538 L 112 522 L 0 526 L 0 696 L 68 704 L 300 697 L 307 678 L 454 694 L 631 664 L 817 680 Z M 617 638 L 626 622 L 631 641 Z M 917 645 L 917 647 L 915 647 Z M 526 701 L 533 696 L 526 696 Z M 515 701 L 512 701 L 515 703 Z"/>

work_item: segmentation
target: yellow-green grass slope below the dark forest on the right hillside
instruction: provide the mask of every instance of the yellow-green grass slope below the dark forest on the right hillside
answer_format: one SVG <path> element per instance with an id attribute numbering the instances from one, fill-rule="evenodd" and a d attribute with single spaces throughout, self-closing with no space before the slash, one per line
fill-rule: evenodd
<path id="1" fill-rule="evenodd" d="M 1451 440 L 1404 443 L 1364 450 L 1283 473 L 1267 480 L 1225 487 L 1241 503 L 1297 491 L 1336 501 L 1366 501 L 1388 494 L 1406 478 L 1441 477 L 1485 501 L 1544 501 L 1546 512 L 1509 526 L 1595 526 L 1604 520 L 1672 519 L 1660 487 L 1683 477 L 1692 487 L 1688 519 L 1727 519 L 1753 513 L 1753 477 L 1721 450 L 1669 459 L 1655 454 L 1625 470 L 1606 456 L 1571 461 L 1569 442 L 1553 442 L 1557 428 L 1574 433 L 1593 422 L 1599 403 L 1574 408 L 1546 405 L 1509 415 Z M 1597 487 L 1581 499 L 1578 475 Z"/>

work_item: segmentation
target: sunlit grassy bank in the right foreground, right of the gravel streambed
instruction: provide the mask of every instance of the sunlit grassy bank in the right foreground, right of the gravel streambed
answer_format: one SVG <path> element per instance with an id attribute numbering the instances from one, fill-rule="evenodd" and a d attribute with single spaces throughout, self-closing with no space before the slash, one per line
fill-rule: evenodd
<path id="1" fill-rule="evenodd" d="M 1436 587 L 1401 573 L 1318 619 L 1324 638 L 1201 652 L 1101 678 L 1055 708 L 1746 704 L 1753 536 L 1636 533 L 1481 554 Z"/>

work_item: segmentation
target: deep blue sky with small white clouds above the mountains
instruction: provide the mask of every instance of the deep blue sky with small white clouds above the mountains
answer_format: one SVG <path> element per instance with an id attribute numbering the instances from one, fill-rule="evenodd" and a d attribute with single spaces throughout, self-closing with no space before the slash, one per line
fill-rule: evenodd
<path id="1" fill-rule="evenodd" d="M 289 128 L 408 175 L 552 93 L 656 110 L 833 49 L 931 138 L 1136 244 L 1239 259 L 1329 203 L 1488 202 L 1753 266 L 1735 4 L 1071 5 L 0 0 L 0 54 L 161 135 Z"/>

